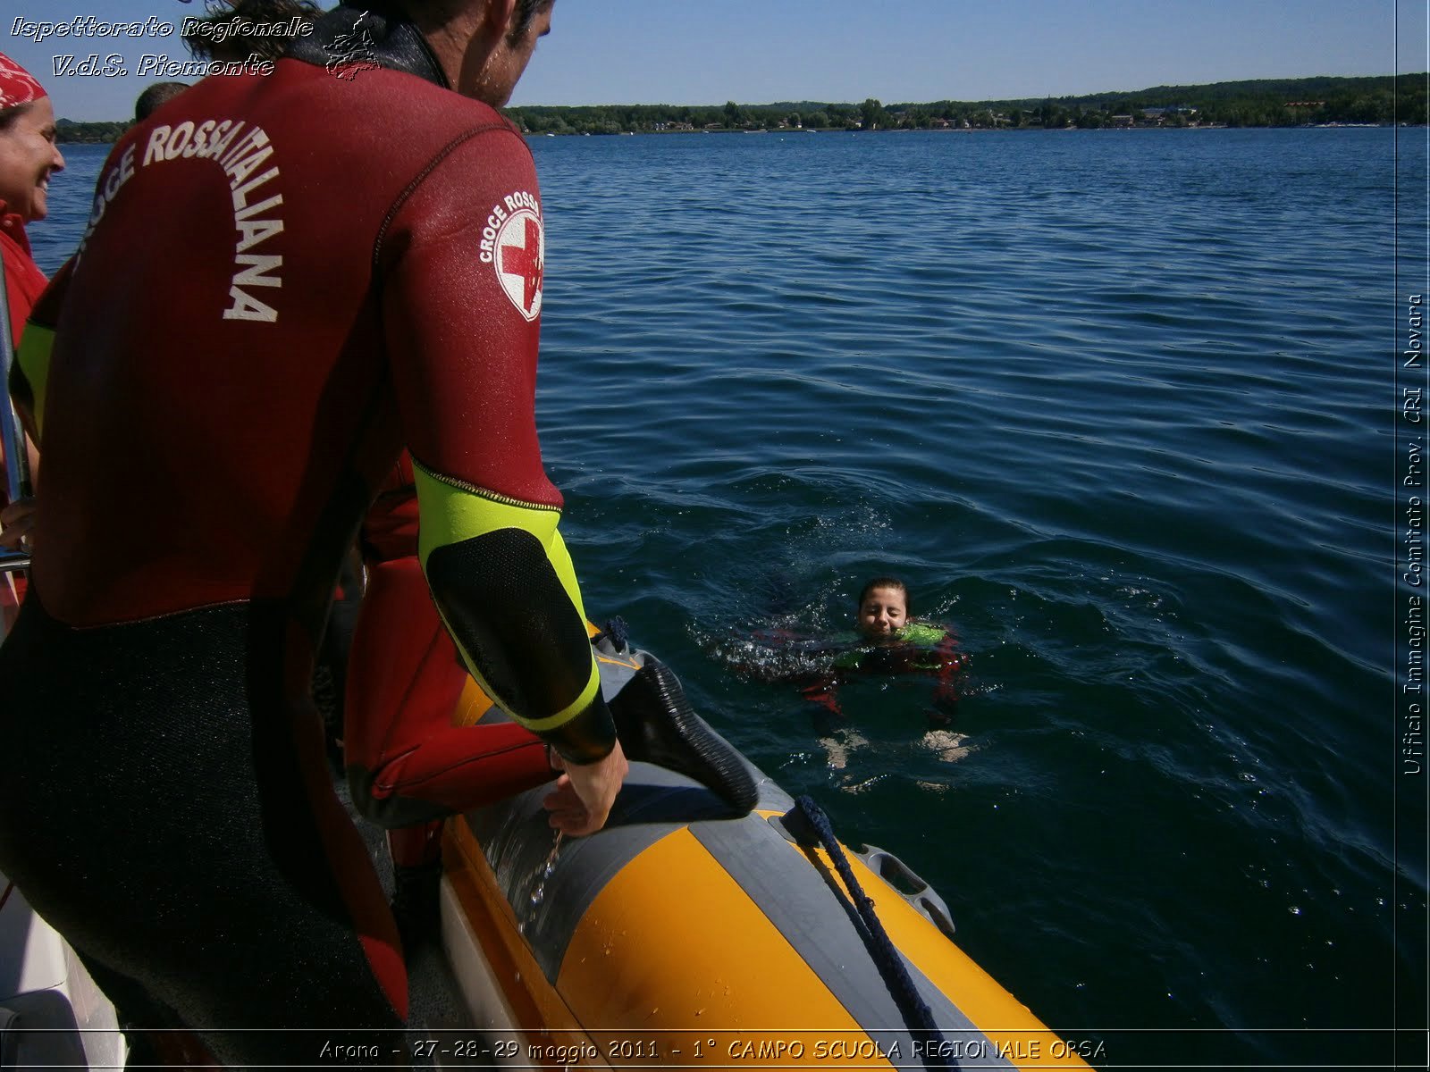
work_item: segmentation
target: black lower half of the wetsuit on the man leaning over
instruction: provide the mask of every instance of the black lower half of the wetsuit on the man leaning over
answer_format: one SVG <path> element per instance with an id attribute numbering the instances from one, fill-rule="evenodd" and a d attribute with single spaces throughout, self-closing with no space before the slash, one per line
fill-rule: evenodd
<path id="1" fill-rule="evenodd" d="M 163 1021 L 136 1026 L 172 1011 L 236 1066 L 312 1063 L 330 1039 L 388 1063 L 395 928 L 323 799 L 317 720 L 282 699 L 283 620 L 237 605 L 70 629 L 31 592 L 0 645 L 0 869 L 132 981 L 126 1016 Z"/>

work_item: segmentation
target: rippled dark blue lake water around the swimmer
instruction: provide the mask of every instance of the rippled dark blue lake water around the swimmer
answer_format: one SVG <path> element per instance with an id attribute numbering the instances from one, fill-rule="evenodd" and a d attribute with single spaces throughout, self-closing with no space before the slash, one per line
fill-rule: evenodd
<path id="1" fill-rule="evenodd" d="M 1393 673 L 1424 131 L 533 152 L 539 419 L 592 616 L 1097 1063 L 1389 1063 L 1427 998 Z M 66 153 L 47 270 L 102 159 Z M 878 572 L 971 655 L 952 762 L 918 686 L 847 686 L 838 766 L 742 672 L 741 637 L 847 627 Z"/>

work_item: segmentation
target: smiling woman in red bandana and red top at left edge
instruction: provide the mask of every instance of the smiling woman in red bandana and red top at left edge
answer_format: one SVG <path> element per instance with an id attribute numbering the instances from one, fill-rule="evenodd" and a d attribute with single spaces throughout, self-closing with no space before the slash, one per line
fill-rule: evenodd
<path id="1" fill-rule="evenodd" d="M 0 257 L 4 260 L 10 339 L 16 346 L 46 284 L 44 273 L 30 256 L 24 224 L 44 219 L 50 176 L 64 169 L 54 133 L 54 109 L 44 87 L 24 67 L 0 53 Z M 3 443 L 0 465 L 4 465 Z M 0 485 L 0 507 L 6 506 L 9 497 Z M 16 505 L 0 517 L 0 522 L 9 523 L 10 542 L 29 527 L 26 516 L 27 507 Z M 0 583 L 0 615 L 6 620 L 24 596 L 23 582 L 11 582 L 9 576 Z"/>

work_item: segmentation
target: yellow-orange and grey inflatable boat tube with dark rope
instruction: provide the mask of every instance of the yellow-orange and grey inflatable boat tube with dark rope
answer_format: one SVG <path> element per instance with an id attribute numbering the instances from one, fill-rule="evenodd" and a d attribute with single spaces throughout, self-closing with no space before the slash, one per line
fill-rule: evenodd
<path id="1" fill-rule="evenodd" d="M 639 669 L 645 653 L 609 645 L 598 657 L 603 673 L 623 663 L 636 682 L 652 669 Z M 651 695 L 684 706 L 659 669 Z M 472 685 L 459 718 L 500 713 Z M 729 755 L 742 770 L 715 790 L 632 763 L 606 828 L 589 838 L 562 843 L 541 789 L 448 822 L 443 942 L 493 1058 L 1085 1068 L 954 943 L 927 883 L 877 848 L 849 852 L 812 802 Z M 432 1045 L 439 1058 L 449 1048 Z"/>

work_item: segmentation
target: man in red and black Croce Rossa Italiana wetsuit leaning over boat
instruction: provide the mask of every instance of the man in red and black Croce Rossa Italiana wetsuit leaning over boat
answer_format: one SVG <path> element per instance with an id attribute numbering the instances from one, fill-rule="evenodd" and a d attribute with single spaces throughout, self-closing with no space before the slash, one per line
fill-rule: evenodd
<path id="1" fill-rule="evenodd" d="M 206 79 L 114 146 L 27 329 L 46 472 L 0 646 L 0 869 L 132 1022 L 226 1063 L 333 1036 L 219 1028 L 405 1016 L 307 696 L 403 446 L 442 619 L 565 770 L 552 825 L 599 828 L 625 776 L 536 440 L 541 196 L 492 110 L 549 19 L 339 7 L 272 74 Z"/>

